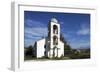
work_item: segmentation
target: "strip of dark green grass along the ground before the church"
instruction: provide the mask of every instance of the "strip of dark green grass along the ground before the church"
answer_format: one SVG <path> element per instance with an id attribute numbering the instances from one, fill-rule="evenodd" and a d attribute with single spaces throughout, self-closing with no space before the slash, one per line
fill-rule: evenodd
<path id="1" fill-rule="evenodd" d="M 69 60 L 69 59 L 87 59 L 90 58 L 90 53 L 79 53 L 79 54 L 69 54 L 66 56 L 62 56 L 60 58 L 47 58 L 47 57 L 42 57 L 42 58 L 36 58 L 33 57 L 32 55 L 27 55 L 24 57 L 24 60 L 36 60 L 36 61 L 46 61 L 46 60 Z"/>

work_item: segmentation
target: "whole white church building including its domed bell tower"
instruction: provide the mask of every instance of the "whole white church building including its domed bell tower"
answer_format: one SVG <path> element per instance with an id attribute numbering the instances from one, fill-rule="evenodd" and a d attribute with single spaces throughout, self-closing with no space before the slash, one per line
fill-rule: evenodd
<path id="1" fill-rule="evenodd" d="M 34 44 L 36 58 L 60 58 L 64 56 L 64 43 L 60 40 L 60 24 L 52 18 L 48 24 L 48 36 Z"/>

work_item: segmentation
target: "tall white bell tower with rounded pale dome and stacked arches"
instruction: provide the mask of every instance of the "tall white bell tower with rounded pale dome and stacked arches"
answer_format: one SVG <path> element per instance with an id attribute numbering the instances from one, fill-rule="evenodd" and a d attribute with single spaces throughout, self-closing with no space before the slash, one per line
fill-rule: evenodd
<path id="1" fill-rule="evenodd" d="M 48 26 L 48 57 L 58 57 L 58 45 L 60 42 L 60 24 L 56 18 L 52 18 Z"/>

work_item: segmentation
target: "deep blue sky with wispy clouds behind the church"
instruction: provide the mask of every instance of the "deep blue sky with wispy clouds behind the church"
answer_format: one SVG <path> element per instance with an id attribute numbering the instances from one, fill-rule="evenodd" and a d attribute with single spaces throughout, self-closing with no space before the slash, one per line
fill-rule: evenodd
<path id="1" fill-rule="evenodd" d="M 48 22 L 55 17 L 72 48 L 90 47 L 90 14 L 24 11 L 24 46 L 47 36 Z"/>

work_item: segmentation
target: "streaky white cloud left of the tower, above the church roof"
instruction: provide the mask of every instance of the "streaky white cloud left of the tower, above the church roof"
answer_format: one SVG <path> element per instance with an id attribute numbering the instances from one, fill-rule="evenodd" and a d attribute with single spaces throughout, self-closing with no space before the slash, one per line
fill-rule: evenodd
<path id="1" fill-rule="evenodd" d="M 24 31 L 24 36 L 27 37 L 24 39 L 25 46 L 34 45 L 34 42 L 42 39 L 42 37 L 47 36 L 47 28 L 41 28 L 41 27 L 34 27 L 29 28 L 26 27 Z"/>

